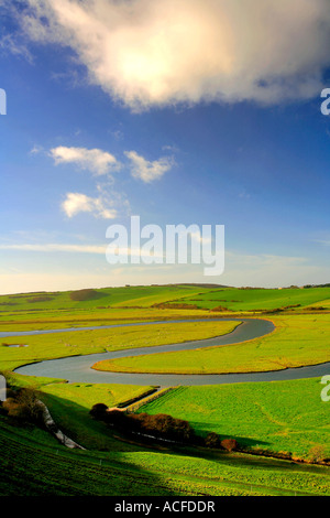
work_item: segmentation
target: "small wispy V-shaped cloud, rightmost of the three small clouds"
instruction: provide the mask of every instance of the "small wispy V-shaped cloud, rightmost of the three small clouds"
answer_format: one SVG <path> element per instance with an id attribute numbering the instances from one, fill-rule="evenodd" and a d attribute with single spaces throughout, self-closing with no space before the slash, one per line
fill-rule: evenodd
<path id="1" fill-rule="evenodd" d="M 150 162 L 138 154 L 136 151 L 125 151 L 124 154 L 131 161 L 132 176 L 145 183 L 161 179 L 163 174 L 169 171 L 174 165 L 174 160 L 169 157 L 163 157 L 160 160 Z"/>

